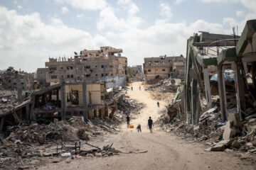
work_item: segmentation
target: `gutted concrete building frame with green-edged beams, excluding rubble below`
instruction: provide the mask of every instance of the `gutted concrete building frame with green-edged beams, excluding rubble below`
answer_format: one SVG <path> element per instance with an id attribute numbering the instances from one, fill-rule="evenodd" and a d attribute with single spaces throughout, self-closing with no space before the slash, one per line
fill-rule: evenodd
<path id="1" fill-rule="evenodd" d="M 181 98 L 188 123 L 198 124 L 205 107 L 216 103 L 223 122 L 231 113 L 238 113 L 240 120 L 255 113 L 255 28 L 256 21 L 251 20 L 241 36 L 234 30 L 233 35 L 201 32 L 188 39 Z"/>

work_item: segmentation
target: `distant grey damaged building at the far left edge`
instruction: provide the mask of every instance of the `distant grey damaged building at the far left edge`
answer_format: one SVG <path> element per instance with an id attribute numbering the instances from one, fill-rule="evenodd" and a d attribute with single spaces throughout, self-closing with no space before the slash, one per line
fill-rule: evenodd
<path id="1" fill-rule="evenodd" d="M 6 90 L 14 91 L 22 89 L 29 91 L 33 89 L 33 74 L 21 72 L 9 67 L 8 69 L 0 72 L 0 84 Z"/>

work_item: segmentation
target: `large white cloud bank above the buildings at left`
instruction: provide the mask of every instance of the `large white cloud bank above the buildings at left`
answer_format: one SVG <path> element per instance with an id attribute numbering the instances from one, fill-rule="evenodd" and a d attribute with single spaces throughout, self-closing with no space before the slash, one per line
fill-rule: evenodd
<path id="1" fill-rule="evenodd" d="M 101 35 L 92 36 L 82 30 L 70 28 L 59 18 L 49 24 L 41 21 L 39 13 L 19 15 L 0 6 L 0 68 L 14 66 L 29 72 L 44 67 L 49 55 L 73 55 L 87 47 L 112 45 Z M 14 62 L 15 61 L 15 62 Z M 30 65 L 28 66 L 28 63 Z"/>

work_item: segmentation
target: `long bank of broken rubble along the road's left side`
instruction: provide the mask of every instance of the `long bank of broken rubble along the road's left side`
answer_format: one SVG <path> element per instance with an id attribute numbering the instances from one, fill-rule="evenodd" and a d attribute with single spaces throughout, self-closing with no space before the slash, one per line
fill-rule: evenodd
<path id="1" fill-rule="evenodd" d="M 121 96 L 117 101 L 117 111 L 112 118 L 92 118 L 73 116 L 69 120 L 53 122 L 41 118 L 38 123 L 20 123 L 8 126 L 0 136 L 1 169 L 35 169 L 38 166 L 67 157 L 106 157 L 119 152 L 112 145 L 99 148 L 90 141 L 103 140 L 107 134 L 117 134 L 129 114 L 139 113 L 142 103 Z M 92 150 L 82 148 L 90 146 Z M 60 149 L 58 149 L 60 148 Z M 33 160 L 37 159 L 36 162 Z M 15 166 L 14 166 L 15 165 Z"/>

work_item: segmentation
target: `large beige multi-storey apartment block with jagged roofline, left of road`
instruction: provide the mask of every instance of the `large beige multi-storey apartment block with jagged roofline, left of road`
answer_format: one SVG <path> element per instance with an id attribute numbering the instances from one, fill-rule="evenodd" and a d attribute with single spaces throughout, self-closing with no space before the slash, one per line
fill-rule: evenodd
<path id="1" fill-rule="evenodd" d="M 100 50 L 82 50 L 71 58 L 49 58 L 46 62 L 47 83 L 65 81 L 97 81 L 106 76 L 127 74 L 127 57 L 121 56 L 122 49 L 100 47 Z"/>

